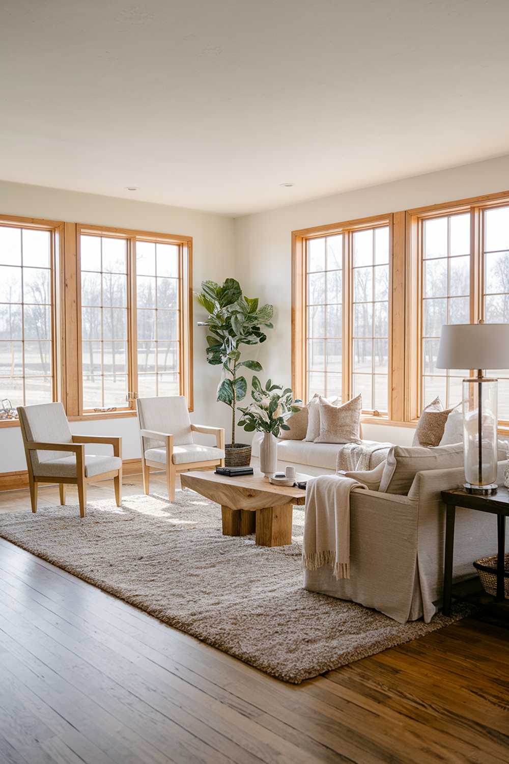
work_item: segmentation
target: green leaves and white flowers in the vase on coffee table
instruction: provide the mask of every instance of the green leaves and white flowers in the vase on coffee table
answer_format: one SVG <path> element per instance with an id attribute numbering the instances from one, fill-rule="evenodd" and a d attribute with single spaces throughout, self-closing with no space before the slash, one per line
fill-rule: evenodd
<path id="1" fill-rule="evenodd" d="M 282 390 L 282 392 L 275 392 L 275 390 Z M 300 411 L 299 406 L 294 404 L 301 401 L 293 400 L 292 390 L 289 387 L 283 390 L 282 385 L 272 384 L 272 380 L 268 380 L 264 390 L 258 377 L 253 377 L 251 395 L 254 403 L 250 403 L 244 409 L 239 406 L 243 413 L 239 426 L 243 426 L 246 432 L 254 430 L 272 432 L 276 438 L 282 429 L 290 429 L 288 425 L 285 425 L 285 421 L 293 413 Z"/>

